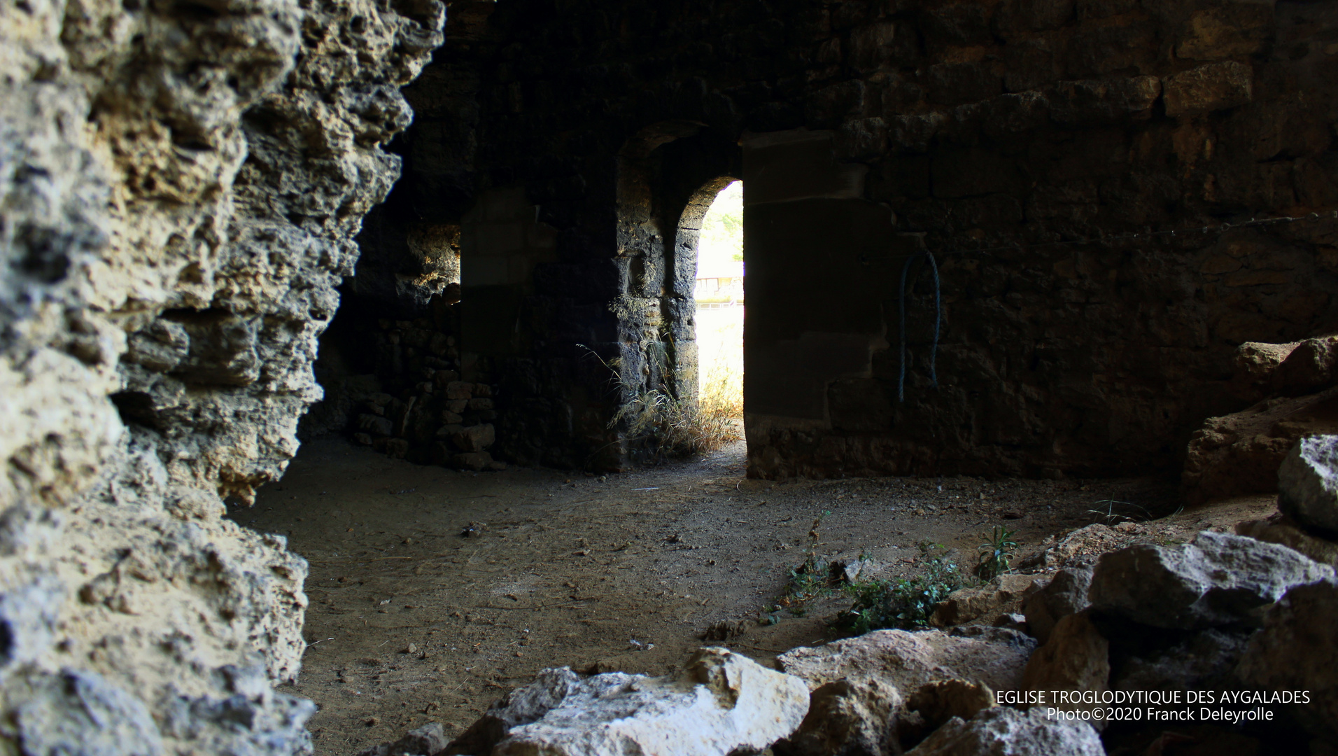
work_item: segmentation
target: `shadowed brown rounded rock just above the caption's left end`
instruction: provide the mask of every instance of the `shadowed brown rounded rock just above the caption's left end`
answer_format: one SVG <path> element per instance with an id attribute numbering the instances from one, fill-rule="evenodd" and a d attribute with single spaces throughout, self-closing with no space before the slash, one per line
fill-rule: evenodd
<path id="1" fill-rule="evenodd" d="M 1104 693 L 1111 682 L 1111 644 L 1101 636 L 1086 611 L 1069 614 L 1054 625 L 1049 640 L 1036 649 L 1022 673 L 1026 690 L 1070 690 Z M 1090 711 L 1096 705 L 1050 700 L 1046 705 L 1064 711 Z M 1105 720 L 1093 720 L 1097 729 Z"/>

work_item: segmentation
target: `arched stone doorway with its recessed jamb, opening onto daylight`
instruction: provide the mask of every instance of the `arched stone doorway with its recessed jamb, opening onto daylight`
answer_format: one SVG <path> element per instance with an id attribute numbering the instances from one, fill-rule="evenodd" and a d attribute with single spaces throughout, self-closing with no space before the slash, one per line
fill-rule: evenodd
<path id="1" fill-rule="evenodd" d="M 739 413 L 733 407 L 724 416 L 701 416 L 701 379 L 709 372 L 698 363 L 694 297 L 704 231 L 708 249 L 719 246 L 712 242 L 720 231 L 732 229 L 741 238 L 737 187 L 727 194 L 727 202 L 732 197 L 739 205 L 732 222 L 708 221 L 717 195 L 741 175 L 740 157 L 736 140 L 680 122 L 645 130 L 619 155 L 617 261 L 622 296 L 611 304 L 618 317 L 617 363 L 606 360 L 615 369 L 621 393 L 615 423 L 625 451 L 633 455 L 646 450 L 681 456 L 719 448 L 723 435 L 741 438 L 743 424 L 733 417 Z M 741 280 L 732 285 L 739 289 L 737 304 Z M 736 341 L 740 335 L 741 328 Z M 741 375 L 741 357 L 735 363 Z M 741 405 L 739 393 L 733 405 Z"/>

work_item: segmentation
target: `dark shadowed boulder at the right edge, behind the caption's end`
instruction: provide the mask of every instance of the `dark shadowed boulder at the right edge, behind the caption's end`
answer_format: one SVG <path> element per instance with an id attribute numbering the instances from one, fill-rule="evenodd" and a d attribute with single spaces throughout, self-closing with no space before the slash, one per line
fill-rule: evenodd
<path id="1" fill-rule="evenodd" d="M 1317 739 L 1338 739 L 1338 581 L 1297 586 L 1268 610 L 1236 674 L 1264 690 L 1309 690 L 1297 706 Z"/>

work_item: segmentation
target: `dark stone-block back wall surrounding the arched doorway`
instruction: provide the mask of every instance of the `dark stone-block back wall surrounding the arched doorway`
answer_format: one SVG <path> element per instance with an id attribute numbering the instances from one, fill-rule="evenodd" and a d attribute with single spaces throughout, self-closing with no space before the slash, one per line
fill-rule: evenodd
<path id="1" fill-rule="evenodd" d="M 645 166 L 700 189 L 729 175 L 693 163 L 712 142 L 743 147 L 752 475 L 1176 468 L 1248 403 L 1235 347 L 1338 329 L 1335 25 L 1255 0 L 498 3 L 466 162 L 554 237 L 494 292 L 522 345 L 488 363 L 499 444 L 618 464 L 648 348 L 690 341 L 688 199 Z M 578 344 L 638 368 L 622 396 Z"/>

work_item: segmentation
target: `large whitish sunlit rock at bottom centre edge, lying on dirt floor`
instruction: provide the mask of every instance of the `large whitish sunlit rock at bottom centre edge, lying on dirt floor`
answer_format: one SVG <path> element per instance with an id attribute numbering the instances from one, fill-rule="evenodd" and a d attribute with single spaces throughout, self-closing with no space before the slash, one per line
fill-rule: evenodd
<path id="1" fill-rule="evenodd" d="M 447 753 L 487 753 L 492 733 L 502 735 L 495 756 L 725 756 L 767 748 L 808 712 L 801 680 L 721 648 L 701 649 L 676 677 L 610 672 L 579 680 L 566 669 L 545 670 L 522 690 Z"/>

